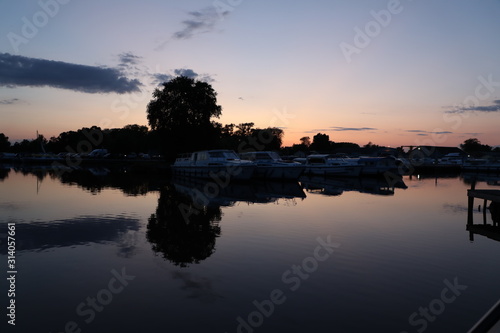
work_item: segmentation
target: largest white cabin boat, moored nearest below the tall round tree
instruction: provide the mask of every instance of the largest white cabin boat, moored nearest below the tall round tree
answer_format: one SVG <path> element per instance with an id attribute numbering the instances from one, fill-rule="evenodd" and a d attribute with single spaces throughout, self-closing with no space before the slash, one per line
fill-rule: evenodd
<path id="1" fill-rule="evenodd" d="M 255 168 L 255 163 L 241 160 L 232 150 L 204 150 L 179 156 L 172 165 L 172 172 L 224 182 L 227 179 L 250 179 Z"/>

